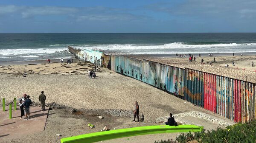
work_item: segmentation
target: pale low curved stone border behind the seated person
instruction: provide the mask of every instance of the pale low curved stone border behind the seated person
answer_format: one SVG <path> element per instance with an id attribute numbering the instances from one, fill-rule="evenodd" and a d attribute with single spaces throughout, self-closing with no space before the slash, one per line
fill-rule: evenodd
<path id="1" fill-rule="evenodd" d="M 175 121 L 177 121 L 179 123 L 182 123 L 182 124 L 185 124 L 185 125 L 191 124 L 191 123 L 188 123 L 186 121 L 183 121 L 182 118 L 184 118 L 186 116 L 201 118 L 205 121 L 209 121 L 209 122 L 212 122 L 212 123 L 215 123 L 217 125 L 224 126 L 224 127 L 235 124 L 235 122 L 233 122 L 233 121 L 225 121 L 221 118 L 212 117 L 211 115 L 208 115 L 208 114 L 205 114 L 205 113 L 202 113 L 202 112 L 198 112 L 198 111 L 184 112 L 184 113 L 173 115 L 173 117 L 175 118 Z M 169 116 L 160 117 L 160 118 L 156 119 L 156 122 L 163 122 L 163 121 L 166 122 L 168 120 L 168 118 L 169 118 Z"/>

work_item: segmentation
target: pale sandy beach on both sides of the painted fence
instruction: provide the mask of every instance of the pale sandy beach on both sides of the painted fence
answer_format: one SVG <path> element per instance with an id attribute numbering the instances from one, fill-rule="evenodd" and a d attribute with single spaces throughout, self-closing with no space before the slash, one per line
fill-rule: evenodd
<path id="1" fill-rule="evenodd" d="M 202 58 L 205 59 L 205 62 L 209 62 L 212 59 L 210 57 Z M 188 62 L 188 58 L 154 58 L 150 60 L 182 67 L 206 66 L 211 68 L 224 67 L 224 64 L 230 63 L 230 61 L 234 59 L 237 59 L 236 67 L 243 68 L 244 66 L 247 68 L 247 70 L 242 70 L 243 72 L 253 72 L 254 69 L 251 68 L 249 64 L 251 60 L 256 59 L 256 56 L 218 56 L 216 57 L 216 62 L 214 62 L 212 66 L 208 64 L 201 65 L 199 58 L 196 62 L 192 63 Z M 242 61 L 242 59 L 244 59 L 244 61 Z M 74 60 L 74 63 L 72 64 L 61 64 L 58 60 L 53 60 L 52 62 L 53 63 L 51 64 L 42 61 L 42 63 L 36 64 L 23 63 L 1 65 L 0 80 L 3 81 L 0 83 L 1 98 L 6 98 L 6 102 L 9 103 L 14 97 L 19 98 L 23 93 L 26 93 L 31 96 L 32 101 L 38 102 L 38 96 L 43 90 L 47 96 L 47 103 L 55 102 L 76 109 L 121 109 L 130 111 L 134 109 L 134 101 L 138 101 L 140 112 L 145 115 L 145 121 L 143 123 L 132 124 L 131 117 L 120 117 L 99 123 L 99 121 L 94 122 L 97 116 L 91 116 L 93 113 L 89 115 L 90 117 L 87 116 L 87 114 L 89 114 L 88 112 L 92 111 L 87 111 L 84 113 L 86 116 L 82 117 L 69 115 L 70 113 L 65 115 L 67 117 L 64 117 L 63 113 L 69 111 L 64 111 L 63 109 L 59 111 L 52 110 L 49 114 L 54 113 L 55 115 L 50 115 L 48 117 L 49 121 L 47 121 L 46 130 L 42 132 L 41 135 L 27 135 L 19 140 L 6 140 L 7 142 L 24 141 L 26 140 L 25 138 L 29 137 L 30 142 L 36 143 L 40 142 L 40 139 L 47 137 L 48 141 L 53 140 L 53 143 L 58 143 L 59 138 L 56 138 L 55 134 L 60 132 L 64 134 L 64 137 L 69 137 L 71 135 L 97 132 L 104 125 L 109 125 L 116 129 L 128 128 L 131 126 L 155 125 L 157 124 L 155 123 L 157 118 L 166 116 L 170 112 L 178 114 L 199 111 L 211 115 L 212 117 L 228 121 L 228 119 L 215 115 L 206 109 L 196 107 L 195 105 L 165 93 L 162 90 L 158 90 L 157 88 L 151 87 L 136 79 L 114 73 L 106 68 L 99 68 L 99 72 L 96 72 L 97 79 L 89 79 L 87 71 L 94 68 L 93 64 L 82 63 L 79 62 L 79 60 Z M 230 65 L 230 68 L 228 69 L 236 68 Z M 26 77 L 22 76 L 24 72 L 28 74 Z M 70 123 L 63 124 L 59 122 L 60 120 L 66 121 L 64 118 L 68 118 Z M 97 130 L 86 130 L 83 132 L 86 128 L 78 126 L 86 126 L 87 122 L 95 123 L 98 126 Z M 58 124 L 60 127 L 57 128 L 54 124 Z M 72 130 L 70 131 L 70 129 Z M 176 135 L 177 134 L 173 134 L 172 136 L 169 136 L 168 134 L 158 135 L 154 136 L 155 138 L 153 137 L 154 139 L 151 139 L 151 141 L 153 143 L 154 140 L 168 138 L 175 139 Z M 35 138 L 37 138 L 37 140 L 35 140 Z M 143 136 L 137 138 L 143 138 Z M 122 140 L 114 140 L 113 142 L 117 143 Z"/>

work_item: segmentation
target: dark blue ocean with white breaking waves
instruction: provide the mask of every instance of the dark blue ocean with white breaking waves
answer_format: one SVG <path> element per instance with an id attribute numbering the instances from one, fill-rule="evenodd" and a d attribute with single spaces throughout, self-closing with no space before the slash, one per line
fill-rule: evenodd
<path id="1" fill-rule="evenodd" d="M 0 62 L 69 58 L 68 45 L 113 54 L 254 53 L 256 33 L 0 34 Z"/>

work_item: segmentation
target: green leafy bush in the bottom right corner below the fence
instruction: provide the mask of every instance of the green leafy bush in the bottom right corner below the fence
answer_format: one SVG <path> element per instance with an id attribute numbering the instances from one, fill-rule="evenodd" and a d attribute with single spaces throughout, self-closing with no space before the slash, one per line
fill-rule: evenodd
<path id="1" fill-rule="evenodd" d="M 256 143 L 256 120 L 249 123 L 237 123 L 226 129 L 217 128 L 207 132 L 182 133 L 176 137 L 179 143 L 197 140 L 198 143 Z M 161 140 L 155 143 L 175 143 L 172 140 Z"/>

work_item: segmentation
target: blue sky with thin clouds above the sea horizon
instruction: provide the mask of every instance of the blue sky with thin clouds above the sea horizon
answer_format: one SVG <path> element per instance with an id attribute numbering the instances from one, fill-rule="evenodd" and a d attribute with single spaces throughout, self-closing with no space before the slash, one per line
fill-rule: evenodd
<path id="1" fill-rule="evenodd" d="M 0 33 L 256 32 L 256 0 L 0 0 Z"/>

